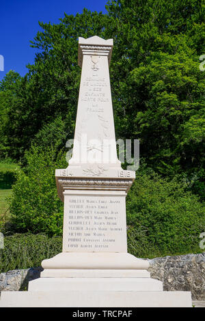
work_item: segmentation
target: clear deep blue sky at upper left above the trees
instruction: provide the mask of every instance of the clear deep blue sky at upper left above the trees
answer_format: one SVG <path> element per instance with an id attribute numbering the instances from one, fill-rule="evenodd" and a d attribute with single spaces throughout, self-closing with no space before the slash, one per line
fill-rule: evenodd
<path id="1" fill-rule="evenodd" d="M 26 65 L 33 64 L 36 49 L 30 47 L 29 41 L 40 30 L 38 21 L 58 23 L 64 12 L 75 15 L 81 13 L 83 8 L 105 13 L 106 3 L 107 0 L 1 1 L 0 55 L 4 58 L 4 71 L 0 71 L 0 81 L 9 70 L 25 75 Z"/>

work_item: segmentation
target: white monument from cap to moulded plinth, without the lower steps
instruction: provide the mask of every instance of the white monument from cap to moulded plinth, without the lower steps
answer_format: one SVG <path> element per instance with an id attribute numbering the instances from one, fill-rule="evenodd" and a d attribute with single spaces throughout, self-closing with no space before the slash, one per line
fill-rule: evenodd
<path id="1" fill-rule="evenodd" d="M 110 270 L 122 277 L 128 269 L 148 276 L 148 262 L 127 253 L 125 198 L 135 172 L 124 171 L 117 156 L 109 79 L 112 48 L 112 39 L 79 38 L 82 72 L 72 158 L 67 169 L 55 173 L 64 201 L 63 252 L 42 262 L 43 277 L 70 277 L 72 268 L 79 277 L 82 270 L 99 277 Z"/>

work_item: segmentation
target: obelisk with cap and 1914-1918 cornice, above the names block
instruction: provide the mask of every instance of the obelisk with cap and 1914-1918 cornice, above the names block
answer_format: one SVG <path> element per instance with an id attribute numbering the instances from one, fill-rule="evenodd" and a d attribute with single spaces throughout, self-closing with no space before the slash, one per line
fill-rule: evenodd
<path id="1" fill-rule="evenodd" d="M 112 48 L 113 39 L 79 37 L 82 71 L 72 157 L 66 169 L 55 171 L 62 200 L 68 189 L 127 193 L 135 180 L 135 171 L 124 171 L 118 160 L 109 79 Z"/>

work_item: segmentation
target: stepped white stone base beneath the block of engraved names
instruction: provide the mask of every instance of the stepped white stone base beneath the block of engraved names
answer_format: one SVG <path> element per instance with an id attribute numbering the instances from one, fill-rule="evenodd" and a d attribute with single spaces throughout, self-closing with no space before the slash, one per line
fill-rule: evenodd
<path id="1" fill-rule="evenodd" d="M 27 292 L 1 292 L 0 307 L 192 306 L 191 292 L 163 291 L 148 261 L 129 253 L 59 253 L 42 266 Z"/>

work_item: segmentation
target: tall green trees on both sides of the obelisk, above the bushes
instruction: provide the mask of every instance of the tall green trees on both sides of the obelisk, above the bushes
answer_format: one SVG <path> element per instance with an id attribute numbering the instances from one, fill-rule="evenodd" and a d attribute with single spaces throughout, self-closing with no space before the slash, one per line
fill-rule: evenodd
<path id="1" fill-rule="evenodd" d="M 98 35 L 114 40 L 110 74 L 117 139 L 139 139 L 141 158 L 154 171 L 196 175 L 201 186 L 203 2 L 113 0 L 106 8 L 107 14 L 83 10 L 65 14 L 57 25 L 40 23 L 42 31 L 31 42 L 38 49 L 35 64 L 25 77 L 9 72 L 0 85 L 1 157 L 23 158 L 33 137 L 56 128 L 56 118 L 61 134 L 67 132 L 57 134 L 56 139 L 64 137 L 59 149 L 73 138 L 78 38 Z"/>

